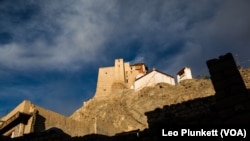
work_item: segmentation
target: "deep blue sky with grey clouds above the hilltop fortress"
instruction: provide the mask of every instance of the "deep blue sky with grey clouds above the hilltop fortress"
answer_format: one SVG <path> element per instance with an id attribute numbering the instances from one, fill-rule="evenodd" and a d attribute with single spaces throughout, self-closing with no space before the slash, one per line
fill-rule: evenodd
<path id="1" fill-rule="evenodd" d="M 231 52 L 250 66 L 249 0 L 0 0 L 0 117 L 24 99 L 71 115 L 123 58 L 175 76 Z"/>

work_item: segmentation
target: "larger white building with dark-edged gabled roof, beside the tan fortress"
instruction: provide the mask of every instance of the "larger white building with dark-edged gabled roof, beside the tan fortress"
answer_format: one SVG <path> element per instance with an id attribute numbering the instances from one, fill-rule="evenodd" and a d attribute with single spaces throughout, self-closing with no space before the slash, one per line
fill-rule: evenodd
<path id="1" fill-rule="evenodd" d="M 173 76 L 160 72 L 156 69 L 153 69 L 145 75 L 136 78 L 137 79 L 134 83 L 134 90 L 140 90 L 147 86 L 155 86 L 157 83 L 161 82 L 175 85 L 175 80 Z"/>

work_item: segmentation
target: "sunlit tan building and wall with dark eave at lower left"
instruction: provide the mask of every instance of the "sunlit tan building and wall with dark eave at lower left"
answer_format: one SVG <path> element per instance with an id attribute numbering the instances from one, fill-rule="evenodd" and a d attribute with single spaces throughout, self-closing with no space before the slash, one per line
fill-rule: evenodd
<path id="1" fill-rule="evenodd" d="M 13 119 L 12 116 L 29 115 L 29 117 L 20 119 Z M 19 118 L 19 117 L 17 117 Z M 52 127 L 57 127 L 65 131 L 71 136 L 82 136 L 87 133 L 94 133 L 93 128 L 86 128 L 85 121 L 76 121 L 56 113 L 54 111 L 39 107 L 32 104 L 30 101 L 24 100 L 13 111 L 3 118 L 7 124 L 4 130 L 0 130 L 3 135 L 14 135 L 14 137 L 22 136 L 32 132 L 41 132 Z"/>

